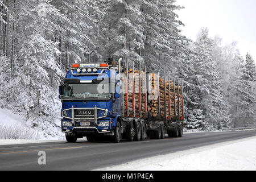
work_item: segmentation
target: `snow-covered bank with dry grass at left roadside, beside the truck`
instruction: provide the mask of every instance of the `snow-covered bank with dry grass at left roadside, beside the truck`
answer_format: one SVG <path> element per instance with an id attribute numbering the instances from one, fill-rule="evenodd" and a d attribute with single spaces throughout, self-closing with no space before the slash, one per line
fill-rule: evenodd
<path id="1" fill-rule="evenodd" d="M 32 129 L 25 123 L 26 119 L 11 110 L 0 108 L 0 139 L 63 139 L 59 128 L 52 128 L 52 135 L 42 130 Z M 44 122 L 44 121 L 42 121 Z M 56 121 L 57 123 L 57 121 Z"/>

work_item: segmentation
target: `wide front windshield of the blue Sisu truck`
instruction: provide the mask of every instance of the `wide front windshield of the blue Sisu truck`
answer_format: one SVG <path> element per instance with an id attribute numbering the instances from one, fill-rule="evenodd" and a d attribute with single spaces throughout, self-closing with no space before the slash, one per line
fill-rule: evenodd
<path id="1" fill-rule="evenodd" d="M 63 99 L 74 98 L 110 98 L 110 84 L 65 84 L 63 85 Z"/>

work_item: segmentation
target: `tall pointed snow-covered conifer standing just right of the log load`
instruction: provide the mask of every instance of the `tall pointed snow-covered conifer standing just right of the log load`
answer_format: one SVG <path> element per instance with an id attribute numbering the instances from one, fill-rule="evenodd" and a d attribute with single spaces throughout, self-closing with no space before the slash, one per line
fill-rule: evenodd
<path id="1" fill-rule="evenodd" d="M 228 116 L 228 105 L 224 100 L 224 92 L 220 73 L 217 71 L 216 61 L 212 55 L 213 40 L 208 36 L 208 30 L 203 29 L 195 43 L 196 55 L 193 56 L 193 68 L 195 69 L 194 82 L 196 93 L 192 97 L 191 106 L 201 110 L 204 118 L 203 129 L 214 130 L 228 127 L 230 119 Z M 191 108 L 192 109 L 192 108 Z M 193 110 L 193 109 L 192 109 Z M 191 117 L 195 118 L 195 117 Z M 193 122 L 193 121 L 191 121 Z"/>

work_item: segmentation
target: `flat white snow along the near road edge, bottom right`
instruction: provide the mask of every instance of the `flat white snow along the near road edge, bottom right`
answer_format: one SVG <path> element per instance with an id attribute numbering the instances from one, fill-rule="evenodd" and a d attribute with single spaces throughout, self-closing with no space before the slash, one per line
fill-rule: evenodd
<path id="1" fill-rule="evenodd" d="M 255 171 L 256 137 L 135 160 L 97 170 Z"/>

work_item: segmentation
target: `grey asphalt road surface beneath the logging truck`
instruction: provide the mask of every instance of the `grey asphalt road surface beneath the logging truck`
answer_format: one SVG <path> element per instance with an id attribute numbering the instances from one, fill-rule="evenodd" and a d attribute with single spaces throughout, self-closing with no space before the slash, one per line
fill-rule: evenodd
<path id="1" fill-rule="evenodd" d="M 0 146 L 0 170 L 92 170 L 131 160 L 169 154 L 256 136 L 256 130 L 184 134 L 183 138 L 111 143 L 86 140 Z M 38 164 L 39 151 L 46 152 L 46 165 Z"/>

